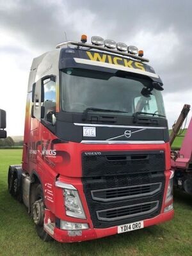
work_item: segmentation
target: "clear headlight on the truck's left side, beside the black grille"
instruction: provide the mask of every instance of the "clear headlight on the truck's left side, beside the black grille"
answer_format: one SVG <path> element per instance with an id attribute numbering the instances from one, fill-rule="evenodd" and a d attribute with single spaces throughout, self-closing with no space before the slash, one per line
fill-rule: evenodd
<path id="1" fill-rule="evenodd" d="M 83 205 L 77 190 L 63 189 L 66 215 L 70 217 L 86 219 Z"/>

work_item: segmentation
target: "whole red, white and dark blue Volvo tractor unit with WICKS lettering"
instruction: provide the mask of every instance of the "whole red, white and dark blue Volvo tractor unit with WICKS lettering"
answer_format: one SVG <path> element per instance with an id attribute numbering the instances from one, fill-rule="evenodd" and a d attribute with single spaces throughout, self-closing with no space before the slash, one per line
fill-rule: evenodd
<path id="1" fill-rule="evenodd" d="M 8 189 L 38 236 L 76 242 L 173 218 L 163 83 L 137 47 L 92 36 L 33 60 Z"/>

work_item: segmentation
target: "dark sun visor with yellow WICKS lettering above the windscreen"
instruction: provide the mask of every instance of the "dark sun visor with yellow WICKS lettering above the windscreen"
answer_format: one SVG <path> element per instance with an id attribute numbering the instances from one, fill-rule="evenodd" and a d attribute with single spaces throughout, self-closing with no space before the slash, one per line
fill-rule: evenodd
<path id="1" fill-rule="evenodd" d="M 141 61 L 104 52 L 77 49 L 62 49 L 59 68 L 86 68 L 115 74 L 117 70 L 130 72 L 135 76 L 147 76 L 157 83 L 162 83 L 154 69 Z"/>

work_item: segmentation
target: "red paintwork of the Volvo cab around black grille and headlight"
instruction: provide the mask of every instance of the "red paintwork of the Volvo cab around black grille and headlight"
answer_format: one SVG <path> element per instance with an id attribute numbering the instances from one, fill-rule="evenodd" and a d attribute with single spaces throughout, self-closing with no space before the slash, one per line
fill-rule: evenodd
<path id="1" fill-rule="evenodd" d="M 93 228 L 92 218 L 88 211 L 88 205 L 86 204 L 86 198 L 83 193 L 83 184 L 81 182 L 81 153 L 83 151 L 102 151 L 102 150 L 164 150 L 166 155 L 166 184 L 165 190 L 167 190 L 168 180 L 170 177 L 170 145 L 169 143 L 159 145 L 86 145 L 81 143 L 63 143 L 55 144 L 52 149 L 56 150 L 57 157 L 42 156 L 42 145 L 39 145 L 36 154 L 29 154 L 30 149 L 33 148 L 33 142 L 54 140 L 54 136 L 47 128 L 44 127 L 38 120 L 31 118 L 30 116 L 30 102 L 26 108 L 26 125 L 24 134 L 24 149 L 22 157 L 22 169 L 24 172 L 30 175 L 35 171 L 38 174 L 40 182 L 42 183 L 45 205 L 47 210 L 45 211 L 45 223 L 48 218 L 54 220 L 55 216 L 65 221 L 73 221 L 80 223 L 88 223 L 90 229 L 83 230 L 82 236 L 68 236 L 68 232 L 54 228 L 54 239 L 60 242 L 73 242 L 73 241 L 85 241 L 90 239 L 96 239 L 99 237 L 110 236 L 117 233 L 117 227 L 111 228 Z M 49 143 L 48 149 L 51 148 Z M 34 152 L 33 152 L 34 153 Z M 57 188 L 55 184 L 56 177 L 59 175 L 59 180 L 73 184 L 79 191 L 84 211 L 86 214 L 86 220 L 76 219 L 68 217 L 65 214 L 65 207 L 63 201 L 63 190 Z M 52 195 L 47 190 L 52 191 Z M 165 198 L 166 193 L 164 193 Z M 170 204 L 171 202 L 169 202 Z M 168 205 L 168 204 L 166 204 Z M 163 213 L 164 207 L 161 209 L 161 214 L 150 220 L 144 220 L 144 227 L 149 225 L 155 225 L 163 221 L 171 220 L 173 218 L 173 211 Z M 48 210 L 49 209 L 49 210 Z"/>

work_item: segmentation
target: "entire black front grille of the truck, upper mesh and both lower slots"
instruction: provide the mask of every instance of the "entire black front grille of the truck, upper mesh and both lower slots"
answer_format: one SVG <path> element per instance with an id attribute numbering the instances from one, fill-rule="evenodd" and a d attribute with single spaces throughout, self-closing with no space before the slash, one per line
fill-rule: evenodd
<path id="1" fill-rule="evenodd" d="M 164 170 L 164 153 L 159 151 L 83 154 L 82 182 L 93 227 L 157 216 L 163 202 Z"/>

